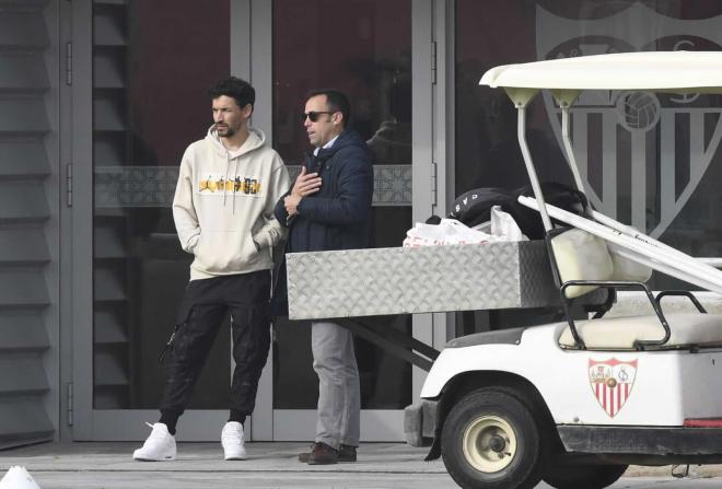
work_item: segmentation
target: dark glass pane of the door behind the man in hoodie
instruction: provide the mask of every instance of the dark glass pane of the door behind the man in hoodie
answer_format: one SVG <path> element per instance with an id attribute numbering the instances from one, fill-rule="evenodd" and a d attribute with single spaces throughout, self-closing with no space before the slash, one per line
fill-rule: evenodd
<path id="1" fill-rule="evenodd" d="M 171 203 L 186 147 L 230 70 L 229 2 L 93 3 L 93 404 L 158 408 L 158 357 L 188 281 Z M 210 28 L 209 26 L 212 26 Z M 190 408 L 226 408 L 221 328 Z"/>

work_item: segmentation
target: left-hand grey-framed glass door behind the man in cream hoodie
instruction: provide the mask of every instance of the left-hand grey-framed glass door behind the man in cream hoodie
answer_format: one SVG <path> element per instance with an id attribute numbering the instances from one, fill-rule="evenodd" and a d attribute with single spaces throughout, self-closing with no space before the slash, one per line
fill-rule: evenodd
<path id="1" fill-rule="evenodd" d="M 159 416 L 158 358 L 188 282 L 171 210 L 178 164 L 212 123 L 208 88 L 231 70 L 231 1 L 73 9 L 73 432 L 140 440 Z M 230 376 L 221 328 L 180 440 L 218 439 Z"/>

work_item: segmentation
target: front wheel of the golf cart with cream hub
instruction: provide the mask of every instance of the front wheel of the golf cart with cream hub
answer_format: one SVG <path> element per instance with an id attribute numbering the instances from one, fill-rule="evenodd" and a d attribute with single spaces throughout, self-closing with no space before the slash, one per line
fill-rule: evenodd
<path id="1" fill-rule="evenodd" d="M 482 388 L 449 414 L 441 435 L 444 465 L 468 489 L 525 489 L 539 481 L 539 430 L 506 389 Z"/>

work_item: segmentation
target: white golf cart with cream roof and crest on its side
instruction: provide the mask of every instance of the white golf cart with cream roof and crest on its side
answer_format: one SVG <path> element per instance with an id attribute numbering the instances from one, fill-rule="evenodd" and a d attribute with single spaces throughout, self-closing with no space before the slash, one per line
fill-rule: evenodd
<path id="1" fill-rule="evenodd" d="M 582 91 L 722 93 L 722 53 L 630 53 L 500 66 L 480 84 L 502 88 L 517 108 L 519 143 L 540 213 L 566 321 L 450 341 L 421 397 L 438 401 L 430 458 L 443 457 L 464 488 L 604 488 L 629 464 L 722 463 L 722 316 L 694 294 L 644 284 L 652 270 L 722 293 L 722 271 L 591 207 L 545 202 L 525 141 L 525 109 L 548 90 L 579 190 L 570 107 Z M 639 290 L 649 316 L 570 314 L 592 290 Z M 698 312 L 666 314 L 685 295 Z M 608 307 L 607 307 L 608 308 Z"/>

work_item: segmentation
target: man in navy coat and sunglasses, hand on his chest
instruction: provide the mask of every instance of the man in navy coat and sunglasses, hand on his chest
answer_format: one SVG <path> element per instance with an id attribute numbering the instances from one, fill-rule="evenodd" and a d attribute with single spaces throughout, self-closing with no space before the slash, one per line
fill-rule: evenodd
<path id="1" fill-rule="evenodd" d="M 315 91 L 306 101 L 303 125 L 315 149 L 275 212 L 289 229 L 287 252 L 369 246 L 373 158 L 361 136 L 347 129 L 349 117 L 348 98 L 338 91 Z M 299 459 L 311 465 L 356 462 L 361 396 L 353 338 L 330 322 L 314 322 L 311 328 L 318 375 L 316 438 Z"/>

